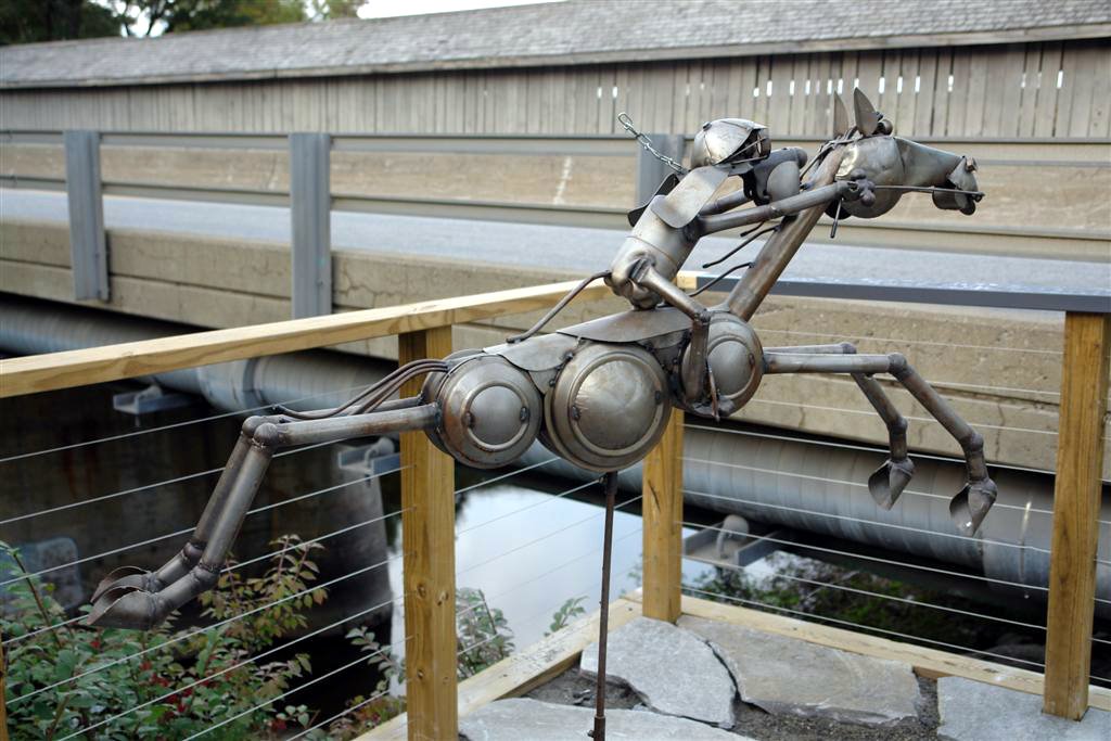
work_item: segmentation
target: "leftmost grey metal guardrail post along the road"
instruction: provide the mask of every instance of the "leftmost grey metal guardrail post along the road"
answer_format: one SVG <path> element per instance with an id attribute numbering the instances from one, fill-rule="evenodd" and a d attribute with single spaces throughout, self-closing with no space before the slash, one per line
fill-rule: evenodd
<path id="1" fill-rule="evenodd" d="M 73 299 L 108 301 L 108 243 L 100 189 L 100 133 L 67 131 L 66 194 L 69 198 Z"/>

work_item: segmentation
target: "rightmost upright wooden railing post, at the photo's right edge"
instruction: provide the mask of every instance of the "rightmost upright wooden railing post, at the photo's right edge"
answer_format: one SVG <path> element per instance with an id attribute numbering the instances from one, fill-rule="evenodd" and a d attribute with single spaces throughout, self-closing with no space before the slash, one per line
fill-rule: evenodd
<path id="1" fill-rule="evenodd" d="M 1065 314 L 1043 709 L 1072 720 L 1088 710 L 1109 347 L 1111 319 Z"/>

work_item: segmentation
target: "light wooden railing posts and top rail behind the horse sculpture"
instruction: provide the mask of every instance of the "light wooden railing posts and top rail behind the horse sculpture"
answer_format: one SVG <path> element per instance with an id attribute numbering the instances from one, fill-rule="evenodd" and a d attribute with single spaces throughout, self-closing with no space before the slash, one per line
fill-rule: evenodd
<path id="1" fill-rule="evenodd" d="M 694 280 L 683 274 L 680 282 L 690 287 Z M 453 324 L 548 308 L 571 286 L 558 283 L 512 289 L 388 309 L 16 358 L 0 361 L 0 397 L 387 336 L 398 336 L 401 362 L 440 358 L 452 350 Z M 798 288 L 798 291 L 812 294 L 817 290 L 814 286 L 809 283 Z M 784 283 L 782 290 L 790 291 L 791 284 Z M 843 291 L 844 287 L 830 287 L 830 290 Z M 595 284 L 578 300 L 605 294 L 607 289 Z M 908 296 L 911 298 L 907 300 L 914 300 L 918 294 L 909 292 Z M 885 298 L 890 300 L 890 297 Z M 1100 301 L 1097 298 L 1089 303 L 1094 306 Z M 1023 672 L 1021 681 L 1014 682 L 1019 689 L 1041 690 L 1047 712 L 1073 719 L 1079 719 L 1091 702 L 1089 661 L 1098 545 L 1095 520 L 1101 497 L 1101 440 L 1109 349 L 1111 320 L 1107 311 L 1067 312 L 1045 673 L 1039 677 Z M 404 392 L 416 393 L 417 390 L 412 387 Z M 643 614 L 667 621 L 677 620 L 684 605 L 693 604 L 682 595 L 680 581 L 682 440 L 682 414 L 673 414 L 667 433 L 645 460 L 643 474 L 643 591 L 638 599 Z M 409 639 L 408 734 L 411 739 L 454 738 L 459 694 L 456 679 L 453 462 L 424 434 L 417 432 L 402 435 L 401 457 L 406 543 L 403 599 L 406 635 Z M 818 630 L 807 640 L 835 640 L 841 645 L 844 643 L 843 633 Z M 949 671 L 948 667 L 959 663 L 958 659 L 955 654 L 932 651 L 923 663 L 932 667 L 931 671 L 943 674 Z M 567 655 L 560 654 L 560 661 L 565 662 Z M 983 667 L 965 675 L 969 674 L 974 678 L 985 675 Z M 533 678 L 536 675 L 532 674 Z M 513 687 L 503 684 L 499 685 L 498 692 L 506 694 L 513 691 Z M 1107 704 L 1108 693 L 1101 691 L 1100 697 L 1103 698 L 1101 704 Z"/>

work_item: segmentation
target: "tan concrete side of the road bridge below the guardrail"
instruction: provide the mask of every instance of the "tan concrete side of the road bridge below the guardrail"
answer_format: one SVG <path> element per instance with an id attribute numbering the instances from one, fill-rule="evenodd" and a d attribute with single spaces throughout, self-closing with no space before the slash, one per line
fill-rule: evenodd
<path id="1" fill-rule="evenodd" d="M 108 238 L 113 298 L 106 309 L 198 327 L 289 317 L 288 246 L 127 230 L 110 230 Z M 577 277 L 416 258 L 402 262 L 394 256 L 338 251 L 333 302 L 338 311 L 344 311 Z M 67 229 L 30 222 L 0 224 L 0 290 L 71 301 Z M 554 326 L 622 308 L 615 299 L 572 306 Z M 498 343 L 537 318 L 522 314 L 457 327 L 454 343 L 459 348 Z M 1060 314 L 774 298 L 765 302 L 754 326 L 768 346 L 850 340 L 863 351 L 901 351 L 980 429 L 991 460 L 1053 468 Z M 343 349 L 396 357 L 392 339 Z M 893 395 L 910 415 L 913 448 L 957 452 L 955 444 L 905 392 L 895 389 Z M 883 425 L 855 385 L 835 377 L 770 378 L 739 417 L 850 440 L 885 440 Z M 1107 461 L 1104 477 L 1111 477 L 1111 444 Z"/>

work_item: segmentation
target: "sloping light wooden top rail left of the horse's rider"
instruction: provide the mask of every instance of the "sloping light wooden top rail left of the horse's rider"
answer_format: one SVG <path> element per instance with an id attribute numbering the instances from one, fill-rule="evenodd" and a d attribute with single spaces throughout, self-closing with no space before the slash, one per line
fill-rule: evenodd
<path id="1" fill-rule="evenodd" d="M 575 281 L 0 361 L 0 398 L 548 309 Z M 609 294 L 598 283 L 577 299 Z"/>

